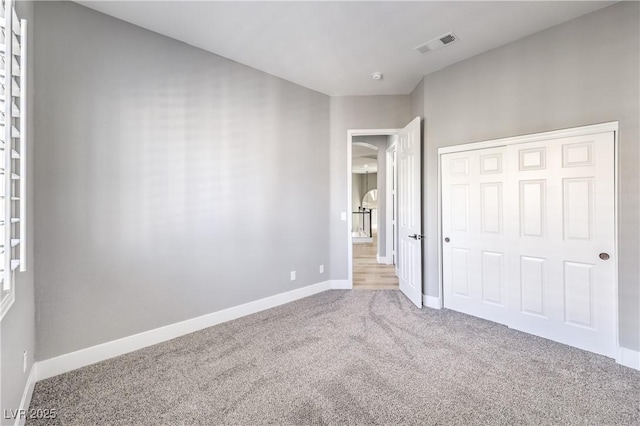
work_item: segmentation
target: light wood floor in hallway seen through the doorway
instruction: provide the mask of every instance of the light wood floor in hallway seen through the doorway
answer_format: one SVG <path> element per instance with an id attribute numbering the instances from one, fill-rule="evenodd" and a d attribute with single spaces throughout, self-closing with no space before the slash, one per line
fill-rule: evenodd
<path id="1" fill-rule="evenodd" d="M 353 245 L 353 289 L 397 290 L 398 277 L 394 265 L 383 265 L 376 259 L 378 234 L 373 241 Z"/>

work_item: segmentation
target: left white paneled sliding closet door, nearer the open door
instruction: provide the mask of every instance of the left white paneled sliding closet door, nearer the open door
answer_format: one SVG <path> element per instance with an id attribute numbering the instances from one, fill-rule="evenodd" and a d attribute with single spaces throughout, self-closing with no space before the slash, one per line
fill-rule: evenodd
<path id="1" fill-rule="evenodd" d="M 442 157 L 444 306 L 507 322 L 504 147 Z"/>

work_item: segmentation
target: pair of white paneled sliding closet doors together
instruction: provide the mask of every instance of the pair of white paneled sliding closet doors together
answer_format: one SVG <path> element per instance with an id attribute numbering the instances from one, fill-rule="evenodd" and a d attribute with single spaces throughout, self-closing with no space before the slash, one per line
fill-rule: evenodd
<path id="1" fill-rule="evenodd" d="M 441 158 L 447 308 L 615 356 L 614 133 Z"/>

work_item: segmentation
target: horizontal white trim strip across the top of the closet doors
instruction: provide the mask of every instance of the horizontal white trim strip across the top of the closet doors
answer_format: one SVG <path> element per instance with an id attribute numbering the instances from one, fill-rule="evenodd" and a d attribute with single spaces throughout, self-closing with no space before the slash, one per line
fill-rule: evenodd
<path id="1" fill-rule="evenodd" d="M 569 129 L 552 130 L 549 132 L 531 133 L 509 138 L 492 139 L 482 142 L 465 143 L 461 145 L 446 146 L 438 148 L 438 156 L 450 154 L 452 152 L 471 151 L 475 149 L 495 148 L 498 146 L 513 145 L 527 142 L 541 142 L 549 139 L 561 139 L 571 136 L 584 136 L 594 133 L 618 132 L 618 122 L 593 124 L 590 126 L 572 127 Z"/>

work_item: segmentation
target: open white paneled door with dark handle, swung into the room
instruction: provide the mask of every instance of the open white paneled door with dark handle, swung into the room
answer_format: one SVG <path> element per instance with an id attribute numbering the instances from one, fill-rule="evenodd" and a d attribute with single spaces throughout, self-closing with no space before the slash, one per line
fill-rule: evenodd
<path id="1" fill-rule="evenodd" d="M 400 291 L 422 307 L 422 173 L 420 117 L 398 137 L 398 269 Z"/>

